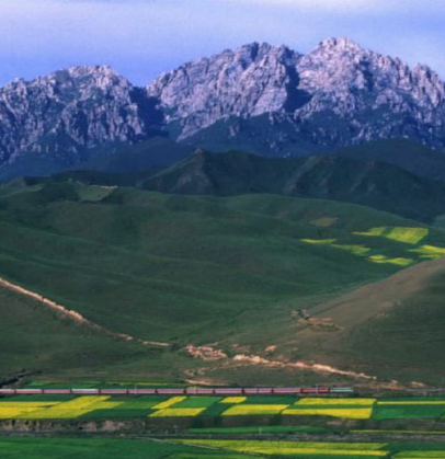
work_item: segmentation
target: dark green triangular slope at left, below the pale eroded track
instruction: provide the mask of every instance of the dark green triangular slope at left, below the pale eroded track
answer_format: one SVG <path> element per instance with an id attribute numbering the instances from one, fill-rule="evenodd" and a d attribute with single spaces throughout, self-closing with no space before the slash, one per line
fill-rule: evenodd
<path id="1" fill-rule="evenodd" d="M 21 371 L 71 380 L 175 378 L 173 356 L 91 331 L 22 295 L 0 288 L 0 378 Z M 150 362 L 149 370 L 141 370 Z M 181 364 L 181 356 L 174 363 Z M 170 370 L 169 370 L 170 369 Z"/>

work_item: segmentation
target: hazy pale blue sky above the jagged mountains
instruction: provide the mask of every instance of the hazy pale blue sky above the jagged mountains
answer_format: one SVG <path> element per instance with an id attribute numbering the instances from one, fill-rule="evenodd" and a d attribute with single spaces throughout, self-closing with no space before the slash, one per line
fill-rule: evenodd
<path id="1" fill-rule="evenodd" d="M 146 84 L 251 42 L 306 53 L 347 36 L 445 77 L 444 0 L 0 0 L 0 84 L 107 64 Z"/>

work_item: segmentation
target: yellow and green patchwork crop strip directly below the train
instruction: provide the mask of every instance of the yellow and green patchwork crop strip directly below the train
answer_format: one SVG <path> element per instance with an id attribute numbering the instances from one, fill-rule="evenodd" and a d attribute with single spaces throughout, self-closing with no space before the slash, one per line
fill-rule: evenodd
<path id="1" fill-rule="evenodd" d="M 114 417 L 329 416 L 345 420 L 445 418 L 445 398 L 298 398 L 252 397 L 118 397 L 79 395 L 38 400 L 33 395 L 0 399 L 0 420 L 64 420 Z"/>

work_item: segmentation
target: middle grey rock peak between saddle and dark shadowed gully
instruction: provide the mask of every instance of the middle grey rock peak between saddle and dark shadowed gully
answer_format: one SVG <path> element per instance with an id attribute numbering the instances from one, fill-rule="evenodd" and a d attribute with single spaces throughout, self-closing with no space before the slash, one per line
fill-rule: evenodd
<path id="1" fill-rule="evenodd" d="M 183 138 L 221 117 L 281 111 L 298 58 L 285 46 L 247 45 L 164 73 L 148 93 L 161 101 L 168 122 L 182 122 Z"/>

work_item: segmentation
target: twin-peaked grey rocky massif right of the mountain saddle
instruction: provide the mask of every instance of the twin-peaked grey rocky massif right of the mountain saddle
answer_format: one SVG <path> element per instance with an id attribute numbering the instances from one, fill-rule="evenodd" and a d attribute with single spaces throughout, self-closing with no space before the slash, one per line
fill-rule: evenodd
<path id="1" fill-rule="evenodd" d="M 273 113 L 319 145 L 392 137 L 445 145 L 440 77 L 347 38 L 321 42 L 306 56 L 266 44 L 226 50 L 164 73 L 148 93 L 181 126 L 180 138 L 230 116 Z"/>

